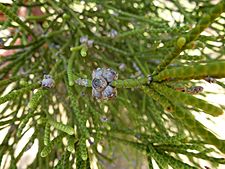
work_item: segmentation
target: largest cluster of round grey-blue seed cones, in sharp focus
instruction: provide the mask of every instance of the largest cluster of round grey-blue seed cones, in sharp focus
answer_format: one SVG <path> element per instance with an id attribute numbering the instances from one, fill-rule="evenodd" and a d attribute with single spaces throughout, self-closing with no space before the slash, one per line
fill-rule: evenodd
<path id="1" fill-rule="evenodd" d="M 92 96 L 98 100 L 108 100 L 116 97 L 117 90 L 111 86 L 118 74 L 113 69 L 97 68 L 92 72 Z"/>

